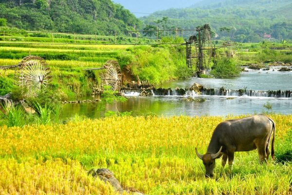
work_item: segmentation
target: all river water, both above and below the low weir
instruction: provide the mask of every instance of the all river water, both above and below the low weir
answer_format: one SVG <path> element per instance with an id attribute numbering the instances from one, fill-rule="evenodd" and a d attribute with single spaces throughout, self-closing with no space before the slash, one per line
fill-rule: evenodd
<path id="1" fill-rule="evenodd" d="M 241 73 L 239 78 L 191 78 L 183 81 L 165 83 L 163 88 L 189 88 L 193 83 L 200 83 L 206 88 L 224 87 L 225 89 L 247 90 L 291 90 L 292 72 L 250 71 Z M 163 115 L 163 116 L 226 116 L 255 114 L 267 111 L 264 105 L 272 105 L 272 111 L 281 114 L 292 114 L 292 98 L 267 98 L 249 96 L 199 96 L 205 101 L 183 101 L 181 96 L 129 97 L 126 102 L 107 105 L 106 109 L 118 112 L 132 112 L 132 115 Z M 62 117 L 73 117 L 75 114 L 86 117 L 103 117 L 104 112 L 98 103 L 65 104 Z M 271 110 L 270 110 L 271 111 Z"/>

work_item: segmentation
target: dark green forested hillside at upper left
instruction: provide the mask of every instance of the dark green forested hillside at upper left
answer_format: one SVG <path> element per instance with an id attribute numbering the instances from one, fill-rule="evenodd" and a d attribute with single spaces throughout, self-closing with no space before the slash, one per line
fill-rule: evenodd
<path id="1" fill-rule="evenodd" d="M 114 35 L 140 20 L 111 0 L 0 0 L 0 18 L 26 30 Z"/>

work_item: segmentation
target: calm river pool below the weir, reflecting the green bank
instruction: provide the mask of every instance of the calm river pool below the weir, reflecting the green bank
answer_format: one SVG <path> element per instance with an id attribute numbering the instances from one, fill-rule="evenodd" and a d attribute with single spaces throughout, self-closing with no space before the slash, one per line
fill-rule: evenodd
<path id="1" fill-rule="evenodd" d="M 178 97 L 141 97 L 129 98 L 127 102 L 116 102 L 107 105 L 107 110 L 119 112 L 132 112 L 133 116 L 155 114 L 158 116 L 225 116 L 255 114 L 265 111 L 263 105 L 269 102 L 276 113 L 292 114 L 292 99 L 277 98 L 234 98 L 204 97 L 205 102 L 182 101 Z M 86 117 L 103 117 L 97 104 L 67 104 L 64 105 L 63 118 L 75 114 Z"/>

